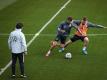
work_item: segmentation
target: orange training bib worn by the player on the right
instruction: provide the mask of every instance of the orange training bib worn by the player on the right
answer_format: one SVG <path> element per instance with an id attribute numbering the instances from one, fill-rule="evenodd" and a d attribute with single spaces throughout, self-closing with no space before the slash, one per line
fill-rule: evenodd
<path id="1" fill-rule="evenodd" d="M 85 22 L 84 25 L 82 24 L 82 21 L 81 21 L 81 23 L 80 23 L 78 28 L 81 31 L 82 35 L 81 35 L 81 33 L 79 31 L 77 31 L 75 33 L 76 35 L 78 35 L 78 36 L 87 36 L 87 30 L 88 30 L 87 21 Z"/>

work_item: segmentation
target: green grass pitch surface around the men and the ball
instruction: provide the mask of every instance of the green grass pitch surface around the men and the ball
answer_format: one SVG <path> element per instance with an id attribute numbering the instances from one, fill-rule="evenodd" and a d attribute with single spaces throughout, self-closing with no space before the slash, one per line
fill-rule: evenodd
<path id="1" fill-rule="evenodd" d="M 0 68 L 10 61 L 11 54 L 8 49 L 8 35 L 17 22 L 24 23 L 25 34 L 35 34 L 41 27 L 67 2 L 67 0 L 0 0 Z M 7 5 L 7 6 L 6 6 Z M 4 8 L 4 6 L 6 6 Z M 90 44 L 88 55 L 81 55 L 82 42 L 78 41 L 64 53 L 56 48 L 52 56 L 45 58 L 49 43 L 55 36 L 43 34 L 56 34 L 57 26 L 73 16 L 81 19 L 87 16 L 89 21 L 107 26 L 107 0 L 71 0 L 67 7 L 44 29 L 44 31 L 28 47 L 25 57 L 26 79 L 14 80 L 107 80 L 107 36 L 89 36 Z M 71 34 L 74 33 L 74 30 Z M 89 34 L 107 34 L 107 29 L 90 29 Z M 26 35 L 27 42 L 33 35 Z M 64 54 L 71 52 L 71 60 L 64 59 Z M 17 65 L 17 74 L 19 66 Z M 0 80 L 10 78 L 11 67 L 1 76 Z M 18 75 L 17 75 L 18 76 Z"/>

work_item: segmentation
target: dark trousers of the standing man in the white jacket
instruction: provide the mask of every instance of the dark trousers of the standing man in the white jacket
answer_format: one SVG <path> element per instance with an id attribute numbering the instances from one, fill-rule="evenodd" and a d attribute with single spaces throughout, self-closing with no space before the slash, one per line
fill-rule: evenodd
<path id="1" fill-rule="evenodd" d="M 12 75 L 15 75 L 16 61 L 19 59 L 21 75 L 24 75 L 24 55 L 23 53 L 12 53 Z"/>

